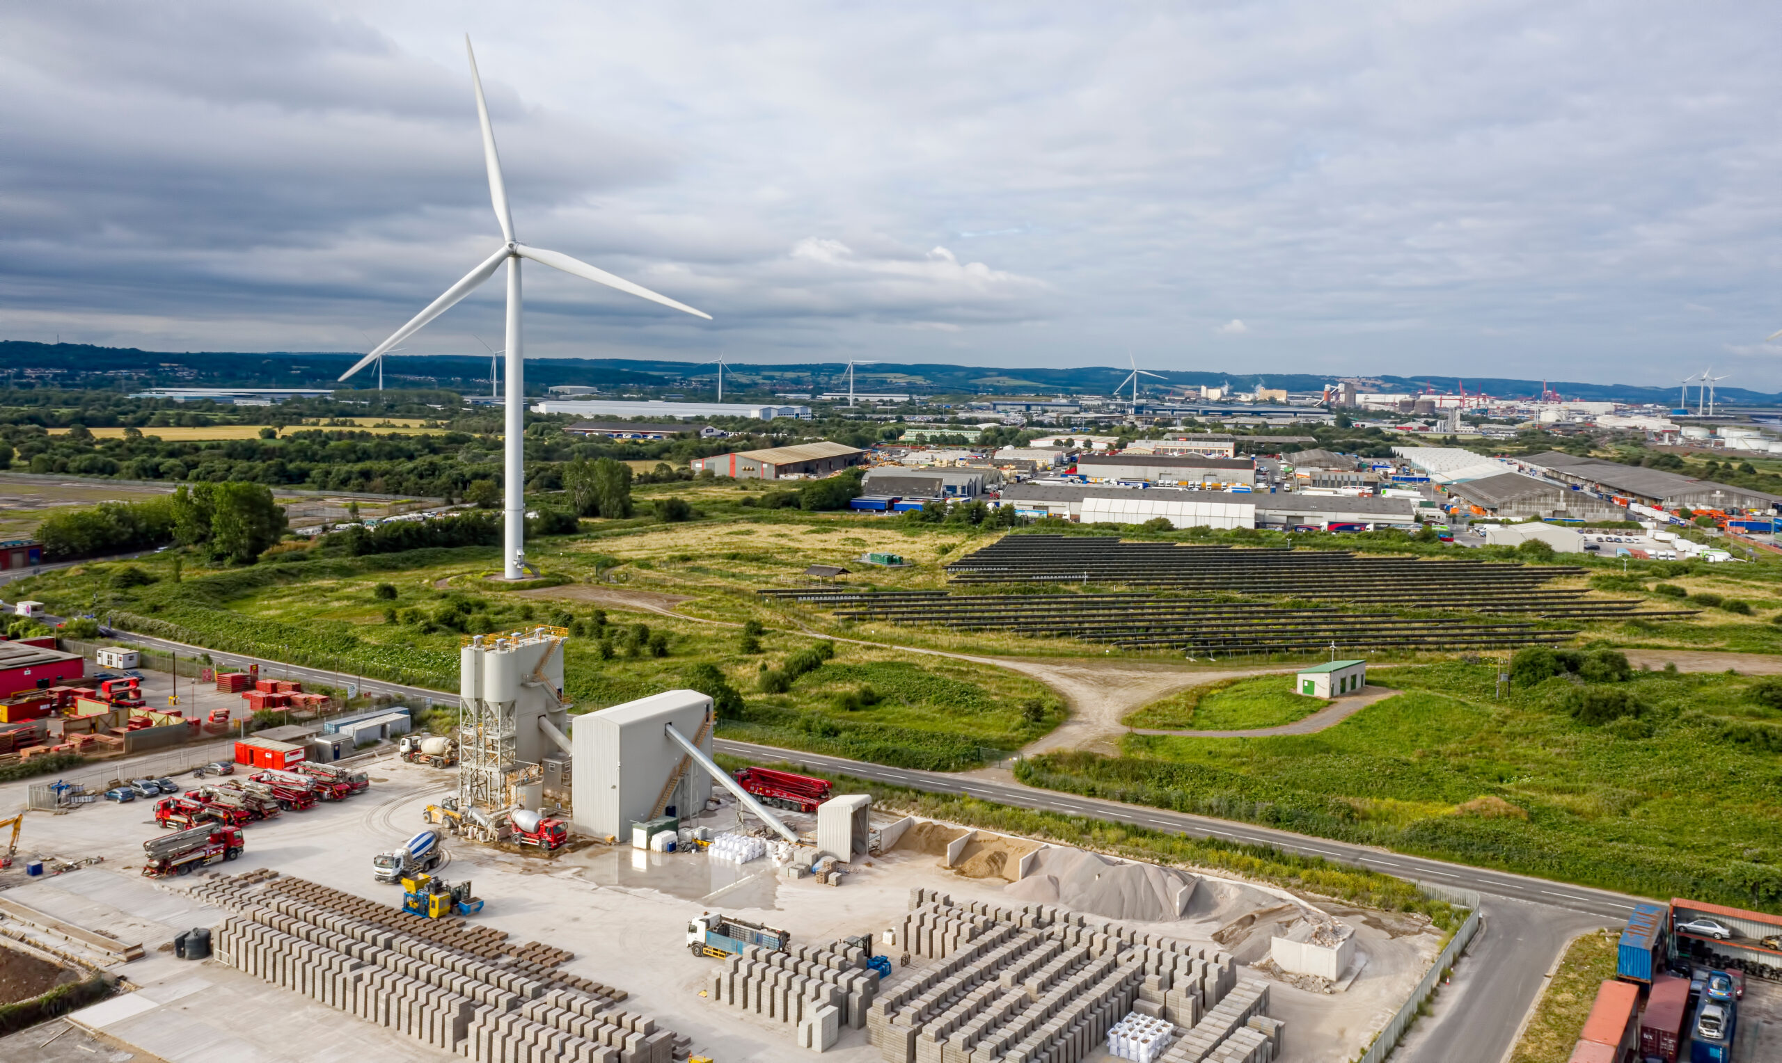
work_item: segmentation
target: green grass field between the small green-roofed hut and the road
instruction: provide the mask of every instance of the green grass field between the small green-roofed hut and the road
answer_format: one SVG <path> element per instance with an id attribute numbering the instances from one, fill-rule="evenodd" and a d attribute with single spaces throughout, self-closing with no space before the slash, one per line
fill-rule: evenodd
<path id="1" fill-rule="evenodd" d="M 1549 678 L 1497 702 L 1493 668 L 1370 675 L 1402 694 L 1315 735 L 1132 735 L 1121 757 L 1025 760 L 1035 785 L 1267 823 L 1652 897 L 1782 908 L 1782 728 L 1730 675 L 1602 684 L 1645 710 L 1568 714 Z"/>

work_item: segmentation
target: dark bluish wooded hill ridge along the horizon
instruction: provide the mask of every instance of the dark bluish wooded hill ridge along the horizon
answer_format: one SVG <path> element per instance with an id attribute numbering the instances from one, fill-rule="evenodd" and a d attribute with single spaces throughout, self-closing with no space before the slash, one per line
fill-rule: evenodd
<path id="1" fill-rule="evenodd" d="M 89 344 L 36 344 L 27 340 L 0 340 L 0 383 L 37 379 L 64 386 L 335 386 L 360 354 L 351 351 L 139 351 L 135 347 L 94 347 Z M 34 372 L 27 372 L 34 370 Z M 53 370 L 53 372 L 45 372 Z M 462 356 L 396 356 L 385 363 L 385 385 L 397 388 L 453 388 L 460 392 L 488 390 L 488 358 Z M 1105 365 L 1076 369 L 998 369 L 985 365 L 941 363 L 875 363 L 855 369 L 855 388 L 861 392 L 914 392 L 921 395 L 1012 395 L 1012 394 L 1096 394 L 1114 390 L 1130 370 Z M 1176 386 L 1231 385 L 1240 390 L 1255 386 L 1287 388 L 1288 392 L 1317 392 L 1336 383 L 1338 376 L 1304 372 L 1171 372 L 1160 370 Z M 1358 377 L 1363 379 L 1363 377 Z M 1543 381 L 1508 377 L 1452 377 L 1452 376 L 1370 376 L 1388 392 L 1467 392 L 1499 397 L 1533 397 Z M 649 392 L 704 394 L 716 383 L 715 367 L 691 361 L 663 361 L 649 358 L 527 358 L 527 392 L 542 392 L 554 385 L 597 386 L 604 394 L 638 388 Z M 1149 379 L 1148 383 L 1157 383 Z M 1545 381 L 1566 399 L 1657 402 L 1670 406 L 1677 388 L 1647 388 L 1638 385 L 1604 385 L 1584 381 Z M 376 372 L 360 372 L 347 388 L 378 386 Z M 750 365 L 727 363 L 725 397 L 768 397 L 773 392 L 832 392 L 846 390 L 846 367 L 841 363 Z M 1782 406 L 1782 394 L 1720 388 L 1720 401 L 1736 406 Z"/>

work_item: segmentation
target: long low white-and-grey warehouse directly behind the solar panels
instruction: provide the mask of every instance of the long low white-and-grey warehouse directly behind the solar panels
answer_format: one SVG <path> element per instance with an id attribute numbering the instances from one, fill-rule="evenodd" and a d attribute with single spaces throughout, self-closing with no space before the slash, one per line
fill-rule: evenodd
<path id="1" fill-rule="evenodd" d="M 1000 506 L 1016 515 L 1082 523 L 1144 523 L 1157 516 L 1176 527 L 1349 529 L 1417 527 L 1411 499 L 1349 495 L 1269 495 L 1262 491 L 1189 491 L 1094 484 L 1009 484 Z"/>

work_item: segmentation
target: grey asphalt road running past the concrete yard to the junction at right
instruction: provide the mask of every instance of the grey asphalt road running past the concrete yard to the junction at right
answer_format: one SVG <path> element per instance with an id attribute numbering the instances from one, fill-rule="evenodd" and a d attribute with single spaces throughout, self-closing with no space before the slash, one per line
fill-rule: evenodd
<path id="1" fill-rule="evenodd" d="M 127 641 L 178 653 L 205 652 L 198 646 L 139 634 L 128 634 Z M 358 682 L 364 693 L 433 700 L 449 700 L 454 696 L 426 687 L 360 680 L 346 673 L 303 668 L 242 653 L 212 652 L 212 657 L 228 662 L 257 662 L 266 669 L 276 669 L 280 677 L 289 675 L 305 682 L 326 686 Z M 1495 1063 L 1508 1056 L 1522 1017 L 1541 988 L 1541 976 L 1557 958 L 1565 942 L 1577 931 L 1591 926 L 1625 922 L 1627 913 L 1638 901 L 1638 897 L 1609 890 L 1467 867 L 1426 856 L 1406 856 L 1370 846 L 1333 842 L 1247 823 L 1042 791 L 1012 780 L 887 767 L 729 739 L 713 739 L 713 748 L 736 757 L 784 760 L 816 771 L 852 775 L 925 792 L 964 792 L 1016 808 L 1085 816 L 1189 837 L 1265 844 L 1287 853 L 1324 856 L 1336 864 L 1381 871 L 1422 885 L 1477 892 L 1483 926 L 1468 945 L 1463 963 L 1456 969 L 1452 985 L 1436 997 L 1433 1013 L 1413 1027 L 1404 1047 L 1394 1054 L 1394 1059 L 1401 1063 L 1451 1063 L 1454 1059 Z"/>

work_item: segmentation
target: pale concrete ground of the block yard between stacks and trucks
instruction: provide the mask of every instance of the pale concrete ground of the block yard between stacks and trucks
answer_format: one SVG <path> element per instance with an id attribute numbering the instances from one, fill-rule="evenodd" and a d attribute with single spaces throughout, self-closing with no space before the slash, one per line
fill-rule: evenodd
<path id="1" fill-rule="evenodd" d="M 381 760 L 369 766 L 372 789 L 346 803 L 287 812 L 246 828 L 246 851 L 228 872 L 269 867 L 383 903 L 399 889 L 371 878 L 372 855 L 394 848 L 422 826 L 421 812 L 456 789 L 449 771 Z M 11 801 L 23 783 L 0 787 Z M 18 794 L 21 796 L 21 792 Z M 736 823 L 732 805 L 707 817 L 715 828 Z M 128 1045 L 171 1063 L 444 1059 L 388 1029 L 324 1008 L 294 992 L 210 960 L 187 963 L 157 951 L 191 926 L 210 926 L 221 912 L 182 892 L 194 880 L 151 881 L 139 874 L 141 842 L 157 833 L 146 805 L 89 805 L 66 816 L 30 814 L 32 837 L 55 837 L 64 855 L 102 855 L 105 862 L 7 890 L 7 897 L 50 915 L 118 937 L 139 937 L 144 960 L 119 967 L 135 994 L 94 1006 L 82 1018 Z M 442 878 L 470 878 L 486 901 L 476 922 L 506 929 L 513 940 L 542 940 L 572 949 L 565 967 L 631 994 L 624 1008 L 688 1035 L 695 1054 L 723 1063 L 779 1063 L 795 1058 L 791 1029 L 700 997 L 711 960 L 688 954 L 686 921 L 704 910 L 734 913 L 791 931 L 795 942 L 877 935 L 907 910 L 911 887 L 936 887 L 955 899 L 1010 903 L 1001 880 L 960 878 L 934 856 L 893 853 L 862 865 L 843 887 L 789 883 L 772 862 L 713 862 L 700 853 L 638 853 L 629 848 L 581 848 L 556 858 L 504 853 L 449 840 Z M 1283 1063 L 1351 1059 L 1397 1010 L 1436 951 L 1436 935 L 1363 915 L 1358 928 L 1369 963 L 1344 994 L 1322 995 L 1285 983 L 1271 988 L 1272 1015 L 1285 1018 Z M 1149 924 L 1205 942 L 1217 926 L 1205 921 Z M 918 962 L 920 963 L 920 962 Z M 896 969 L 893 981 L 914 969 Z M 1240 967 L 1240 976 L 1258 974 Z M 864 1031 L 845 1031 L 830 1058 L 877 1061 Z M 121 1061 L 119 1061 L 121 1063 Z"/>

